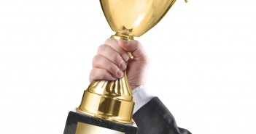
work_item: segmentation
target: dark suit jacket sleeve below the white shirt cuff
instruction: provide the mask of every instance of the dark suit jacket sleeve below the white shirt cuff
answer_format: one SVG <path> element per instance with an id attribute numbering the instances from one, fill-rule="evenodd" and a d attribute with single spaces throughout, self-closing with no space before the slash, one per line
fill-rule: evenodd
<path id="1" fill-rule="evenodd" d="M 158 97 L 151 99 L 133 114 L 133 120 L 139 127 L 139 134 L 191 134 L 177 126 L 171 112 Z"/>

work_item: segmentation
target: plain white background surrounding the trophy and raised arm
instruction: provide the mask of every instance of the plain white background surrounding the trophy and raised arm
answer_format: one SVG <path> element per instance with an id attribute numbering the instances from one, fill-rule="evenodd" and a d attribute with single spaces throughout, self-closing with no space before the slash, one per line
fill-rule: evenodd
<path id="1" fill-rule="evenodd" d="M 179 0 L 136 38 L 147 86 L 194 134 L 256 133 L 256 2 Z M 0 133 L 63 133 L 113 32 L 98 0 L 0 0 Z"/>

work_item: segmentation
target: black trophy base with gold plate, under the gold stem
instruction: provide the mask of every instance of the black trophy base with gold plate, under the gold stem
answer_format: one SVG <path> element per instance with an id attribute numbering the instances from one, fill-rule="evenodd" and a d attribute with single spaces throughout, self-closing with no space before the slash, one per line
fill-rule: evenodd
<path id="1" fill-rule="evenodd" d="M 137 134 L 138 127 L 69 112 L 64 134 Z"/>

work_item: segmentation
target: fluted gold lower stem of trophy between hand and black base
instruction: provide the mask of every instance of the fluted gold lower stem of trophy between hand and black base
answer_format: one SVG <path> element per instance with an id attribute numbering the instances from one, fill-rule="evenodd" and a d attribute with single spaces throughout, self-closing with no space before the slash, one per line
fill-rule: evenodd
<path id="1" fill-rule="evenodd" d="M 78 112 L 120 123 L 133 123 L 134 101 L 126 72 L 115 81 L 94 80 L 82 96 Z"/>

